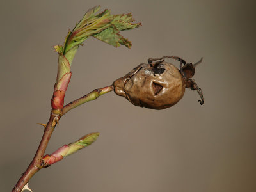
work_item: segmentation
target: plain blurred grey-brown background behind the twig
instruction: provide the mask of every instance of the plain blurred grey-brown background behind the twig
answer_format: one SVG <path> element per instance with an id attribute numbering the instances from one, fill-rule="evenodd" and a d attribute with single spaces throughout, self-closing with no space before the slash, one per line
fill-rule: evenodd
<path id="1" fill-rule="evenodd" d="M 65 102 L 111 84 L 148 58 L 202 56 L 196 92 L 162 111 L 111 92 L 65 115 L 51 153 L 99 131 L 92 146 L 41 170 L 40 191 L 256 191 L 253 1 L 6 1 L 1 4 L 0 191 L 11 191 L 35 154 L 51 111 L 58 54 L 88 8 L 129 13 L 143 26 L 132 49 L 90 38 L 79 49 Z M 178 65 L 176 61 L 169 60 Z"/>

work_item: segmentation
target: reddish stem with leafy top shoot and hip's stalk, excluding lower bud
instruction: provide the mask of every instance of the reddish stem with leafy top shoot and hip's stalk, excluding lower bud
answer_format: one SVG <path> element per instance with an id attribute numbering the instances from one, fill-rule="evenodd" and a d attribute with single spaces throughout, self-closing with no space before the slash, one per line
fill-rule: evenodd
<path id="1" fill-rule="evenodd" d="M 95 100 L 100 95 L 113 90 L 112 85 L 93 90 L 93 92 L 89 93 L 88 95 L 74 100 L 74 102 L 70 102 L 70 104 L 63 107 L 65 93 L 72 75 L 70 68 L 72 65 L 72 60 L 74 59 L 78 47 L 83 44 L 84 40 L 86 40 L 86 38 L 89 36 L 93 36 L 94 38 L 102 40 L 103 42 L 115 47 L 125 45 L 126 47 L 130 48 L 132 45 L 131 42 L 120 35 L 119 32 L 141 26 L 141 23 L 132 23 L 134 19 L 132 18 L 131 13 L 111 15 L 109 10 L 104 10 L 102 13 L 95 15 L 99 9 L 100 6 L 95 6 L 94 8 L 88 10 L 83 19 L 76 24 L 75 28 L 68 32 L 68 35 L 65 38 L 65 44 L 54 46 L 55 51 L 59 54 L 59 60 L 57 79 L 56 83 L 54 84 L 54 92 L 51 99 L 51 116 L 47 125 L 45 126 L 44 135 L 42 136 L 42 140 L 40 141 L 40 145 L 36 151 L 35 157 L 13 188 L 13 192 L 23 191 L 25 189 L 24 186 L 26 186 L 31 177 L 33 177 L 33 175 L 35 175 L 35 173 L 40 169 L 45 167 L 45 161 L 43 161 L 45 149 L 61 116 L 70 111 L 70 109 L 76 108 L 77 106 L 90 100 Z"/>

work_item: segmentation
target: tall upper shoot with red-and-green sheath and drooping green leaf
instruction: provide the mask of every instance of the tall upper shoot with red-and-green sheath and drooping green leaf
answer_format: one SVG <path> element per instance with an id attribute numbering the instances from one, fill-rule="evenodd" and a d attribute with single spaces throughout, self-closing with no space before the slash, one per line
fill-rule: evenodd
<path id="1" fill-rule="evenodd" d="M 54 86 L 51 104 L 55 113 L 61 113 L 64 104 L 65 92 L 71 78 L 70 67 L 80 45 L 89 36 L 93 36 L 102 42 L 114 47 L 125 45 L 130 48 L 131 42 L 120 35 L 120 31 L 138 28 L 141 23 L 132 23 L 134 19 L 131 13 L 122 15 L 111 15 L 109 10 L 96 14 L 100 6 L 88 10 L 72 31 L 68 31 L 64 45 L 56 45 L 54 49 L 58 52 L 58 76 Z"/>

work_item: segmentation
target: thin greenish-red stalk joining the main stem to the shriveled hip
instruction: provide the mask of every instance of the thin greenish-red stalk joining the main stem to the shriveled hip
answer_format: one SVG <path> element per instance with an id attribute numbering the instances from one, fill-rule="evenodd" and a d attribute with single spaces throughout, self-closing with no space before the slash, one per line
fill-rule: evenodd
<path id="1" fill-rule="evenodd" d="M 92 92 L 88 93 L 87 95 L 84 95 L 83 97 L 80 97 L 79 99 L 76 99 L 69 104 L 65 105 L 62 109 L 62 112 L 60 113 L 60 116 L 65 115 L 68 111 L 71 109 L 76 108 L 77 106 L 80 106 L 81 104 L 84 104 L 88 101 L 97 99 L 100 95 L 104 95 L 105 93 L 111 92 L 114 90 L 113 84 L 106 86 L 104 88 L 95 89 Z"/>

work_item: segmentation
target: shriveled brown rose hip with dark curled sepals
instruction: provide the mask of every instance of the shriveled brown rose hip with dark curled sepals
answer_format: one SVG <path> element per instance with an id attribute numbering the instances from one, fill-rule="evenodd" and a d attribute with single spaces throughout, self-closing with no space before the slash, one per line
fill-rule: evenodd
<path id="1" fill-rule="evenodd" d="M 180 70 L 171 63 L 164 62 L 165 58 L 179 60 Z M 198 63 L 201 61 L 202 59 Z M 198 63 L 186 63 L 175 56 L 148 59 L 148 64 L 140 64 L 124 77 L 114 81 L 115 93 L 136 106 L 165 109 L 182 99 L 185 88 L 191 88 L 197 90 L 202 99 L 199 102 L 203 104 L 202 90 L 191 79 Z"/>

